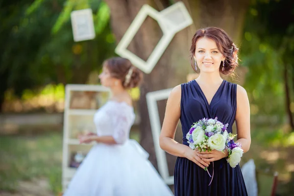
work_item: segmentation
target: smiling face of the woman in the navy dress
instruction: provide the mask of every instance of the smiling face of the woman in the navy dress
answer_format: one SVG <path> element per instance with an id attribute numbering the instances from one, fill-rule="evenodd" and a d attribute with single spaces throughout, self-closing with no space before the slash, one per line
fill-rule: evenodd
<path id="1" fill-rule="evenodd" d="M 201 72 L 220 72 L 221 61 L 224 61 L 224 59 L 225 57 L 214 40 L 205 37 L 197 40 L 195 60 Z"/>

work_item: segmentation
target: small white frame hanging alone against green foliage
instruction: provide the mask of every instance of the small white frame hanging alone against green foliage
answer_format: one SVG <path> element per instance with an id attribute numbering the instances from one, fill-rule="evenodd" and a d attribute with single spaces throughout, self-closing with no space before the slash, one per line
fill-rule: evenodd
<path id="1" fill-rule="evenodd" d="M 95 38 L 92 9 L 75 10 L 71 13 L 74 42 Z"/>

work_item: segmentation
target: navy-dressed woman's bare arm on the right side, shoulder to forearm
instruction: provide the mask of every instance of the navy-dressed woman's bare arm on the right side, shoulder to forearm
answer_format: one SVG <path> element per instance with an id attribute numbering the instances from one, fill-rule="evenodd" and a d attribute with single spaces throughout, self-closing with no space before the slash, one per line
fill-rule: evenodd
<path id="1" fill-rule="evenodd" d="M 247 152 L 251 144 L 250 136 L 250 107 L 246 90 L 237 86 L 237 111 L 236 111 L 237 141 L 241 143 L 244 152 Z"/>

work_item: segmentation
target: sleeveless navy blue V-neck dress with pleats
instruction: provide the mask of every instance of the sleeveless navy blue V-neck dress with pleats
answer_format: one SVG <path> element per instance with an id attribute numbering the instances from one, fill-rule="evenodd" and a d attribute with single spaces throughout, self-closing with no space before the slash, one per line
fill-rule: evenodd
<path id="1" fill-rule="evenodd" d="M 181 117 L 183 144 L 189 146 L 186 134 L 191 125 L 203 118 L 215 118 L 223 124 L 228 123 L 228 133 L 232 132 L 235 121 L 237 85 L 223 80 L 211 100 L 210 105 L 195 80 L 181 85 Z M 208 171 L 213 172 L 212 164 Z M 177 157 L 174 170 L 175 196 L 247 196 L 241 172 L 237 165 L 231 168 L 226 159 L 214 162 L 214 178 L 206 171 L 184 157 Z"/>

